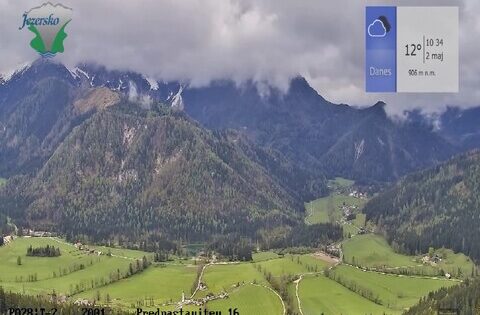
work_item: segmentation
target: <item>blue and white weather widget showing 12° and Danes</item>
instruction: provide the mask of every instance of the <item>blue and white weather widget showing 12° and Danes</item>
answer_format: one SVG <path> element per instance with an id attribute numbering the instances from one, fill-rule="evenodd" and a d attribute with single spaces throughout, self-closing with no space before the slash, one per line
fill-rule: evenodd
<path id="1" fill-rule="evenodd" d="M 365 19 L 367 92 L 458 92 L 458 7 L 373 6 Z"/>

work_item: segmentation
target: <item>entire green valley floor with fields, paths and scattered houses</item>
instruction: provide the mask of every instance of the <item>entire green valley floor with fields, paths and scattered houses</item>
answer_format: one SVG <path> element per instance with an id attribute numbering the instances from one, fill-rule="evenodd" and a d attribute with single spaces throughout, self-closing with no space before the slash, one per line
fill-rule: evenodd
<path id="1" fill-rule="evenodd" d="M 332 196 L 307 205 L 306 221 L 344 226 L 345 239 L 334 246 L 340 258 L 322 251 L 269 251 L 254 253 L 251 262 L 177 257 L 144 267 L 153 261 L 151 253 L 21 237 L 0 247 L 0 286 L 132 312 L 207 308 L 241 315 L 401 314 L 429 292 L 459 284 L 475 268 L 468 257 L 447 249 L 435 251 L 440 257 L 435 262 L 427 255 L 395 252 L 383 237 L 370 233 L 359 211 L 365 200 L 346 190 L 351 182 L 335 183 L 339 186 Z M 346 218 L 346 210 L 356 216 Z M 46 245 L 59 247 L 61 256 L 26 256 L 29 246 Z"/>

